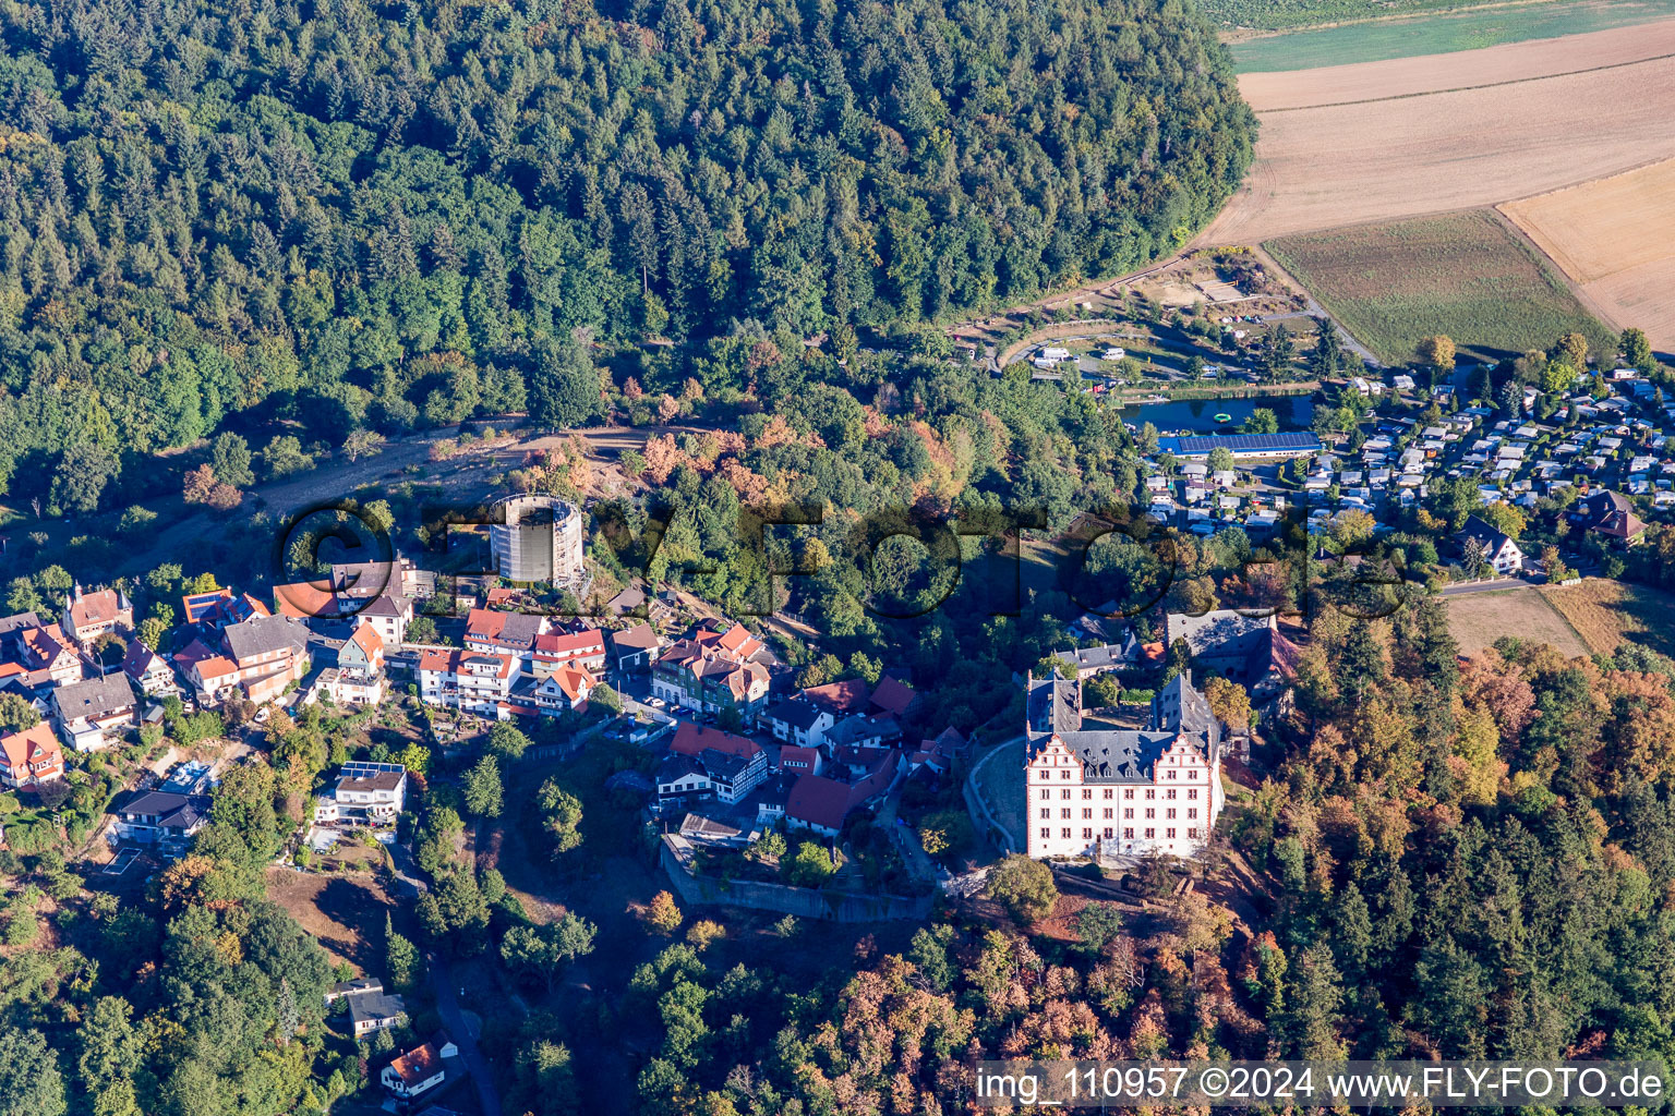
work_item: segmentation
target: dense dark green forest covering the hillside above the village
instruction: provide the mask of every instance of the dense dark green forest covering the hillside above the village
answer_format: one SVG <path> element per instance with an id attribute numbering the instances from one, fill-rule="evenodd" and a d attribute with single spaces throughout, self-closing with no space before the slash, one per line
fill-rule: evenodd
<path id="1" fill-rule="evenodd" d="M 240 412 L 519 410 L 578 326 L 811 335 L 1122 271 L 1255 129 L 1181 0 L 42 0 L 0 40 L 7 475 Z"/>

